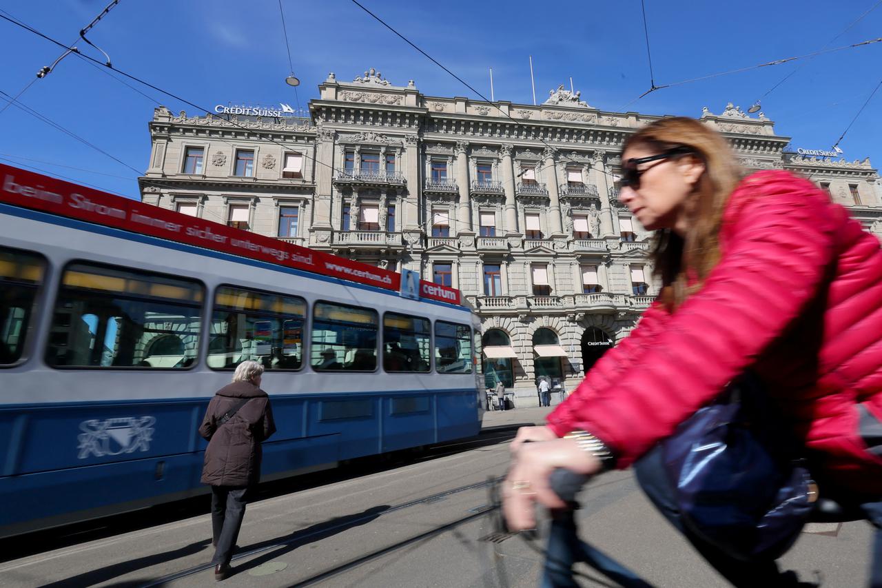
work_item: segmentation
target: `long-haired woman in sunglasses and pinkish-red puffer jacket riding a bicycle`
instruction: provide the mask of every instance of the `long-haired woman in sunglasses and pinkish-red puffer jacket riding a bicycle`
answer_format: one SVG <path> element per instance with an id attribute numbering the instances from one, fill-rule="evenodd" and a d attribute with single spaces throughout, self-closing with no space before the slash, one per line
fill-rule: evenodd
<path id="1" fill-rule="evenodd" d="M 804 441 L 821 494 L 882 501 L 878 239 L 808 180 L 740 180 L 725 139 L 690 118 L 634 133 L 622 162 L 622 201 L 657 231 L 662 290 L 547 426 L 519 431 L 504 488 L 512 529 L 534 526 L 534 501 L 563 506 L 548 486 L 556 468 L 595 474 L 643 458 L 641 485 L 682 531 L 651 449 L 747 368 Z M 882 526 L 882 513 L 871 518 Z M 774 562 L 735 562 L 689 539 L 733 584 L 777 577 Z"/>

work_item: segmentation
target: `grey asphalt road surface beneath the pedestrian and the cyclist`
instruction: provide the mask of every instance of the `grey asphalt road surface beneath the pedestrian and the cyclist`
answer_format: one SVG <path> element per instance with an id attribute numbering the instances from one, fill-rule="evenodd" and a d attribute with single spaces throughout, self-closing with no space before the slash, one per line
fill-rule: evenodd
<path id="1" fill-rule="evenodd" d="M 0 563 L 2 586 L 453 586 L 537 585 L 542 556 L 520 537 L 496 531 L 486 511 L 489 478 L 505 472 L 513 426 L 547 409 L 490 413 L 477 441 L 430 452 L 419 461 L 359 472 L 250 504 L 234 575 L 215 584 L 208 562 L 207 514 L 106 533 Z M 501 428 L 494 428 L 501 427 Z M 648 582 L 677 588 L 727 585 L 654 512 L 630 472 L 594 480 L 581 496 L 582 537 Z M 208 499 L 206 498 L 206 501 Z M 783 563 L 824 586 L 866 582 L 871 529 L 863 523 L 811 525 Z M 582 570 L 587 586 L 613 585 Z"/>

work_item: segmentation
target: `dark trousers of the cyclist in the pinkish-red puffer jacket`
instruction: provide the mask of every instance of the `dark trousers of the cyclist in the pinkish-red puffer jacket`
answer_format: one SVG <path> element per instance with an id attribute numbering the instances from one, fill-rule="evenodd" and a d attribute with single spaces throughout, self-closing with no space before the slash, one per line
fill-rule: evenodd
<path id="1" fill-rule="evenodd" d="M 683 533 L 684 537 L 689 539 L 692 547 L 695 547 L 699 554 L 732 585 L 751 588 L 798 585 L 796 584 L 796 575 L 792 572 L 781 574 L 774 560 L 745 562 L 736 559 L 690 531 L 677 509 L 674 485 L 669 479 L 668 472 L 665 471 L 661 446 L 656 446 L 646 456 L 640 458 L 639 462 L 634 465 L 634 470 L 640 487 L 643 488 L 655 508 L 668 519 L 670 524 L 676 527 L 677 531 Z M 819 487 L 821 495 L 824 496 L 825 488 L 829 489 L 831 486 L 821 482 Z M 882 501 L 878 501 L 878 497 L 858 497 L 847 493 L 830 494 L 833 500 L 859 512 L 859 516 L 864 516 L 876 527 L 870 562 L 870 585 L 871 588 L 882 588 Z"/>

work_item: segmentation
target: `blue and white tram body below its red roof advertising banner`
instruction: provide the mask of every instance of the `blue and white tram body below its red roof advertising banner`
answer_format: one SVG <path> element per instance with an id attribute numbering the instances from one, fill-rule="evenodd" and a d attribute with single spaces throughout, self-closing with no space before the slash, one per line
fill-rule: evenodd
<path id="1" fill-rule="evenodd" d="M 246 358 L 264 480 L 479 432 L 467 307 L 0 203 L 0 537 L 206 492 L 208 399 Z"/>

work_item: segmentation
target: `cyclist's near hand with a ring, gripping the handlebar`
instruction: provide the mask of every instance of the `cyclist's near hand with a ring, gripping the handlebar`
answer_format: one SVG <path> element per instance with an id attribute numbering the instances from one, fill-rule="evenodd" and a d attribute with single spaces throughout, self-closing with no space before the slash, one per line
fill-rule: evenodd
<path id="1" fill-rule="evenodd" d="M 597 457 L 579 449 L 576 441 L 557 436 L 553 441 L 522 444 L 513 459 L 502 488 L 503 514 L 512 531 L 535 528 L 534 502 L 549 509 L 564 508 L 564 501 L 549 486 L 552 471 L 566 468 L 590 476 L 601 470 Z"/>

